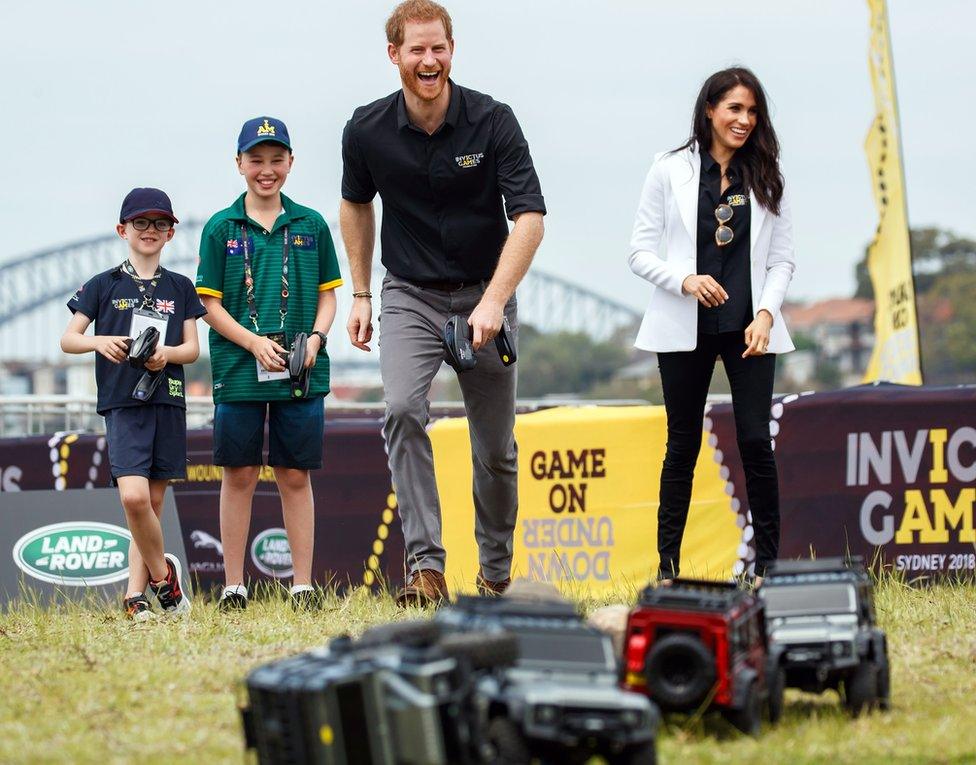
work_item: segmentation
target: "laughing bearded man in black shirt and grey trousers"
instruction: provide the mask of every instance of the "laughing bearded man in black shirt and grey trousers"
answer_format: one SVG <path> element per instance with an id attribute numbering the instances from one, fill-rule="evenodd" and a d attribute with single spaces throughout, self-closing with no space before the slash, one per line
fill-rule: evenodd
<path id="1" fill-rule="evenodd" d="M 386 33 L 403 87 L 356 109 L 346 125 L 339 222 L 354 289 L 349 338 L 368 351 L 372 200 L 379 193 L 387 269 L 380 308 L 383 436 L 409 570 L 397 600 L 426 604 L 448 594 L 426 426 L 430 384 L 445 360 L 443 327 L 453 314 L 467 319 L 477 359 L 458 376 L 474 467 L 477 586 L 500 594 L 510 581 L 518 510 L 516 375 L 491 346 L 506 319 L 516 340 L 515 288 L 542 241 L 545 202 L 512 110 L 450 80 L 447 11 L 407 0 L 394 9 Z"/>

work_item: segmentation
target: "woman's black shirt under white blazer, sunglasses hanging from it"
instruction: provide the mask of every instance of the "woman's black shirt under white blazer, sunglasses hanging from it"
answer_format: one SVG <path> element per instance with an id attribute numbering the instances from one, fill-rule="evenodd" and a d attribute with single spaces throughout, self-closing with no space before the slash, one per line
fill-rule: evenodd
<path id="1" fill-rule="evenodd" d="M 698 273 L 708 274 L 721 284 L 729 299 L 722 305 L 698 304 L 698 331 L 706 335 L 740 332 L 752 321 L 752 281 L 749 193 L 735 157 L 726 174 L 729 187 L 722 193 L 722 169 L 707 151 L 701 153 L 701 179 L 698 183 Z M 720 204 L 732 208 L 727 225 L 733 237 L 725 247 L 715 243 L 715 208 Z"/>

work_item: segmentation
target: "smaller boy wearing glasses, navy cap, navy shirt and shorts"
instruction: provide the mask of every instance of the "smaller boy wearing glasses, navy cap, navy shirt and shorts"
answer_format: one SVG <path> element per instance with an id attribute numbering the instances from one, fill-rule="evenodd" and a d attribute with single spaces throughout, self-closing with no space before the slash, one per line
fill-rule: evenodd
<path id="1" fill-rule="evenodd" d="M 165 552 L 159 523 L 167 484 L 186 477 L 183 365 L 200 355 L 196 320 L 206 313 L 193 283 L 159 265 L 178 222 L 159 189 L 130 191 L 116 226 L 129 257 L 72 296 L 73 315 L 61 338 L 65 353 L 96 354 L 97 410 L 105 418 L 112 480 L 132 533 L 123 607 L 139 622 L 154 616 L 147 585 L 164 614 L 190 610 L 179 560 Z M 93 322 L 94 334 L 86 335 Z M 145 340 L 154 332 L 153 348 Z M 136 357 L 140 345 L 146 351 Z"/>

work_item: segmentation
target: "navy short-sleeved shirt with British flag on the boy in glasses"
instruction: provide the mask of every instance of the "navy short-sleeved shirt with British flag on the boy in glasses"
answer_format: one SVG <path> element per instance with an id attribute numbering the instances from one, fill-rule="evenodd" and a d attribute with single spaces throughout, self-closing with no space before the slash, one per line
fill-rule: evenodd
<path id="1" fill-rule="evenodd" d="M 148 279 L 141 280 L 148 288 Z M 175 346 L 183 342 L 183 322 L 203 316 L 207 310 L 200 302 L 193 282 L 182 274 L 162 269 L 153 308 L 166 316 L 166 337 L 163 345 Z M 129 335 L 132 312 L 142 307 L 139 287 L 120 266 L 92 277 L 68 301 L 72 313 L 81 312 L 95 323 L 96 335 Z M 142 376 L 126 362 L 114 364 L 102 354 L 95 353 L 95 383 L 98 386 L 99 414 L 109 409 L 143 406 L 132 398 L 132 389 Z M 167 364 L 166 375 L 148 403 L 186 408 L 185 378 L 182 364 Z"/>

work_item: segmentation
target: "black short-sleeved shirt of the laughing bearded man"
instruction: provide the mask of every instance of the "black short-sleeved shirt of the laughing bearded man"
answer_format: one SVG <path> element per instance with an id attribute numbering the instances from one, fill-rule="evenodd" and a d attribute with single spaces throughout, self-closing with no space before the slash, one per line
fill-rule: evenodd
<path id="1" fill-rule="evenodd" d="M 342 134 L 342 198 L 365 204 L 379 192 L 383 265 L 414 282 L 490 279 L 506 213 L 546 212 L 512 110 L 450 87 L 433 135 L 411 124 L 402 90 L 356 109 Z"/>

